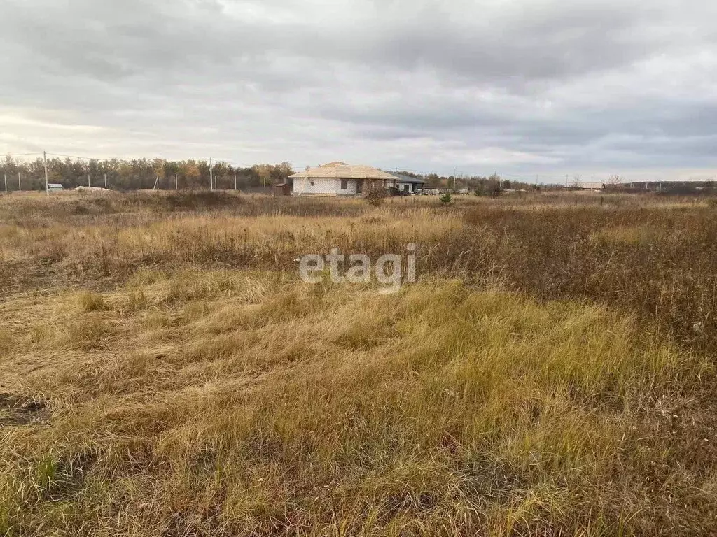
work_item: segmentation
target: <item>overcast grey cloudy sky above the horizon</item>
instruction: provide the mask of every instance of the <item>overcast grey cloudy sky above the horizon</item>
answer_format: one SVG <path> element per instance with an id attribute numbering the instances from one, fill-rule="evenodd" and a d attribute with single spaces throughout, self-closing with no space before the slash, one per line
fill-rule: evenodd
<path id="1" fill-rule="evenodd" d="M 708 178 L 716 16 L 706 0 L 0 0 L 0 151 Z"/>

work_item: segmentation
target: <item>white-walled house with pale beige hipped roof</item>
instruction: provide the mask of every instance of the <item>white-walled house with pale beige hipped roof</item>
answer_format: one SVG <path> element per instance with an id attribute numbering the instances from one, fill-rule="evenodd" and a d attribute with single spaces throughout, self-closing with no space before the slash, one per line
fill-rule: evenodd
<path id="1" fill-rule="evenodd" d="M 390 187 L 397 177 L 364 165 L 328 163 L 289 175 L 294 181 L 294 195 L 356 195 L 381 185 Z"/>

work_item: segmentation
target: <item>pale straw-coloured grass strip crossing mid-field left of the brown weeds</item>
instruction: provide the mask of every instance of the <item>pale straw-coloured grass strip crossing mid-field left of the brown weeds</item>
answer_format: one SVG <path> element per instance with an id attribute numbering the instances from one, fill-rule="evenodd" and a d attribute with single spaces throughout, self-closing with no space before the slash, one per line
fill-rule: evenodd
<path id="1" fill-rule="evenodd" d="M 343 203 L 343 201 L 341 202 Z M 136 225 L 97 223 L 81 226 L 0 227 L 0 259 L 36 258 L 87 260 L 103 255 L 118 260 L 142 256 L 176 256 L 216 245 L 251 249 L 252 255 L 276 256 L 287 248 L 314 252 L 337 248 L 391 248 L 410 242 L 437 241 L 462 228 L 458 213 L 409 208 L 400 218 L 385 208 L 356 217 L 231 216 L 227 213 L 176 218 L 138 218 Z M 80 265 L 82 261 L 80 261 Z"/>

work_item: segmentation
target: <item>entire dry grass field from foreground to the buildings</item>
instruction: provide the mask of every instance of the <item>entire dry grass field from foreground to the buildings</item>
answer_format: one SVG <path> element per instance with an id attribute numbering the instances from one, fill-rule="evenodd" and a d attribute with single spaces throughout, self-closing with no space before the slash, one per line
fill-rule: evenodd
<path id="1" fill-rule="evenodd" d="M 717 208 L 0 197 L 0 536 L 717 533 Z M 415 284 L 308 285 L 403 253 Z"/>

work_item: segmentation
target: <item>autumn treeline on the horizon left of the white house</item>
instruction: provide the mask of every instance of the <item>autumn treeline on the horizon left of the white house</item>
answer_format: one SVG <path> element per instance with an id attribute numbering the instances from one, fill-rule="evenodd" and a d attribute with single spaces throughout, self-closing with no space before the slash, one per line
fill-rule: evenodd
<path id="1" fill-rule="evenodd" d="M 286 180 L 293 170 L 290 163 L 257 164 L 248 168 L 227 163 L 213 163 L 214 184 L 219 189 L 250 190 L 270 187 Z M 79 160 L 71 158 L 48 158 L 49 183 L 61 183 L 65 188 L 87 185 L 104 186 L 113 190 L 138 190 L 153 188 L 159 178 L 159 188 L 209 188 L 209 163 L 205 160 L 133 159 Z M 7 180 L 8 190 L 44 190 L 44 167 L 42 158 L 19 161 L 6 156 L 0 161 L 0 181 Z M 235 182 L 236 181 L 236 182 Z M 0 190 L 4 184 L 0 183 Z"/>

